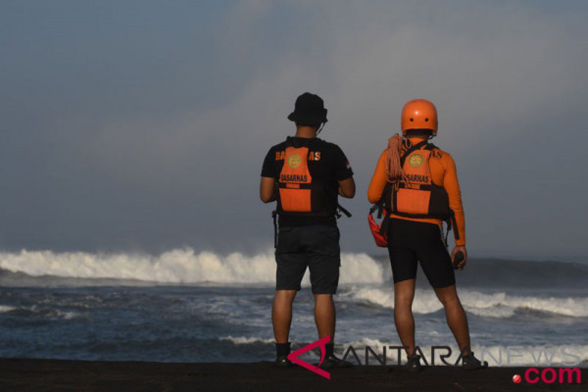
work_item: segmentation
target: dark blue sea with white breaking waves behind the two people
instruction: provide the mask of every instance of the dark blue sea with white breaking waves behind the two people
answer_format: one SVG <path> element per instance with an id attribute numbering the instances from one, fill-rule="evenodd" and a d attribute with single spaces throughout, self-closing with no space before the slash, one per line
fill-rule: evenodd
<path id="1" fill-rule="evenodd" d="M 588 365 L 588 266 L 474 258 L 456 274 L 475 351 L 504 356 L 517 347 L 521 356 L 513 364 L 533 364 L 534 353 L 547 350 L 557 363 L 564 347 Z M 0 357 L 272 360 L 274 279 L 269 251 L 0 253 Z M 382 354 L 382 347 L 400 345 L 386 257 L 343 254 L 335 300 L 336 352 L 352 346 L 363 361 L 366 346 Z M 427 357 L 431 346 L 457 350 L 443 307 L 420 273 L 413 311 Z M 293 312 L 296 349 L 318 339 L 308 273 Z M 396 361 L 395 350 L 387 356 Z"/>

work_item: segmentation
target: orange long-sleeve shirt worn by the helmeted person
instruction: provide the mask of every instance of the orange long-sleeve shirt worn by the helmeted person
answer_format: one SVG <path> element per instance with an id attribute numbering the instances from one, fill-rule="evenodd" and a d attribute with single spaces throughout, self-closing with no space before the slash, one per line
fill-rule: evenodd
<path id="1" fill-rule="evenodd" d="M 413 144 L 420 142 L 419 139 L 411 139 Z M 436 185 L 442 186 L 449 195 L 449 207 L 455 212 L 455 220 L 457 222 L 457 230 L 459 230 L 459 239 L 455 240 L 456 245 L 466 244 L 466 223 L 463 215 L 462 193 L 459 190 L 459 182 L 457 182 L 457 171 L 455 162 L 449 153 L 439 150 L 440 156 L 431 155 L 429 159 L 429 168 L 431 177 Z M 373 173 L 372 181 L 368 188 L 368 199 L 370 203 L 376 203 L 382 197 L 382 192 L 387 183 L 386 166 L 385 166 L 386 150 L 380 155 L 377 160 L 376 170 Z M 442 225 L 440 219 L 417 219 L 407 218 L 390 214 L 390 217 L 397 219 L 414 220 L 416 222 L 435 223 Z M 454 232 L 455 234 L 455 232 Z"/>

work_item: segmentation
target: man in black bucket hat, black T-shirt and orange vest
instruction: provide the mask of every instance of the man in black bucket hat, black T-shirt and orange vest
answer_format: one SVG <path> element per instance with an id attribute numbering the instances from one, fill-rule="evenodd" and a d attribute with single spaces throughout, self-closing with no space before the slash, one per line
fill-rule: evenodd
<path id="1" fill-rule="evenodd" d="M 292 302 L 300 282 L 310 270 L 319 337 L 330 336 L 321 367 L 349 366 L 333 354 L 335 304 L 339 283 L 340 249 L 338 196 L 355 196 L 349 162 L 339 146 L 316 138 L 327 122 L 327 109 L 319 96 L 303 93 L 288 119 L 296 123 L 296 136 L 273 146 L 263 161 L 260 197 L 276 200 L 279 230 L 276 244 L 276 293 L 272 307 L 276 338 L 276 364 L 288 360 Z"/>

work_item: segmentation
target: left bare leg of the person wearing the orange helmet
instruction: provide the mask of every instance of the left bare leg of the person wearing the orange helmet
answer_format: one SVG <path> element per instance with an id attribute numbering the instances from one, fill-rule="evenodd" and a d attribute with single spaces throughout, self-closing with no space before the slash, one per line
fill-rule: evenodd
<path id="1" fill-rule="evenodd" d="M 415 351 L 415 317 L 412 315 L 412 300 L 415 298 L 415 279 L 394 284 L 394 322 L 406 354 Z"/>

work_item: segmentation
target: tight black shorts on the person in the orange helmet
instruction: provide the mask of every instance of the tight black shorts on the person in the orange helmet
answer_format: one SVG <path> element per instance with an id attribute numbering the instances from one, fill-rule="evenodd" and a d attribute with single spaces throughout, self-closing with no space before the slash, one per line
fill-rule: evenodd
<path id="1" fill-rule="evenodd" d="M 417 262 L 435 289 L 455 284 L 442 229 L 433 223 L 390 219 L 388 253 L 394 283 L 416 278 Z"/>

